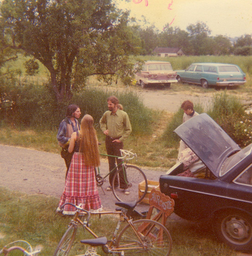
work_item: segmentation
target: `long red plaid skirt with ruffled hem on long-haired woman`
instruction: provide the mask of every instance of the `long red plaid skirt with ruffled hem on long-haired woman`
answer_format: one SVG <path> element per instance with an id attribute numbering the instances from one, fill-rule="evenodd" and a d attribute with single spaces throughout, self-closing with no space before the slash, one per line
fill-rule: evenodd
<path id="1" fill-rule="evenodd" d="M 96 186 L 94 167 L 85 165 L 81 153 L 75 152 L 72 156 L 65 188 L 57 210 L 64 203 L 82 204 L 82 208 L 86 210 L 102 208 Z M 73 215 L 75 210 L 73 206 L 65 205 L 63 214 Z"/>

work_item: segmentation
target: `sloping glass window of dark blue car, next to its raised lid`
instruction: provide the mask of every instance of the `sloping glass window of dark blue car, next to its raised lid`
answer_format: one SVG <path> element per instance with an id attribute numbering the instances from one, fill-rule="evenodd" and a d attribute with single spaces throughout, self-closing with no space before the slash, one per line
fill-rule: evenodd
<path id="1" fill-rule="evenodd" d="M 243 150 L 237 152 L 236 154 L 230 156 L 221 166 L 220 168 L 220 176 L 228 173 L 232 167 L 237 165 L 240 161 L 246 158 L 249 154 L 251 154 L 251 145 L 248 145 L 243 148 Z"/>

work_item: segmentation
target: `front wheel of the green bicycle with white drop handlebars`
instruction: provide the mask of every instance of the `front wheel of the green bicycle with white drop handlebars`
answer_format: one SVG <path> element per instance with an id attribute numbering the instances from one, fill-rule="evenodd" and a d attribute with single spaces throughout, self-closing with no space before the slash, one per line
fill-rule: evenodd
<path id="1" fill-rule="evenodd" d="M 118 177 L 121 176 L 120 179 L 124 180 L 124 183 L 127 184 L 128 193 L 125 193 L 125 189 L 121 189 L 116 187 L 118 184 Z M 119 180 L 120 180 L 119 179 Z M 144 189 L 139 192 L 138 185 L 140 182 L 145 183 Z M 123 165 L 122 170 L 117 170 L 114 174 L 112 180 L 112 190 L 113 194 L 118 201 L 122 202 L 130 202 L 130 201 L 137 201 L 140 202 L 147 193 L 147 178 L 143 171 L 134 165 Z"/>

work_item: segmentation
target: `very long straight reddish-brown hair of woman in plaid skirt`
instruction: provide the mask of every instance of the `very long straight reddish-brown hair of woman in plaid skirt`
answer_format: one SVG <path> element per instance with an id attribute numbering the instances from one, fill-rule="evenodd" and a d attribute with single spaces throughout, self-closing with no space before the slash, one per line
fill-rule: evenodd
<path id="1" fill-rule="evenodd" d="M 94 120 L 90 115 L 85 115 L 81 120 L 80 149 L 86 165 L 99 166 L 99 150 L 96 131 L 93 126 Z"/>

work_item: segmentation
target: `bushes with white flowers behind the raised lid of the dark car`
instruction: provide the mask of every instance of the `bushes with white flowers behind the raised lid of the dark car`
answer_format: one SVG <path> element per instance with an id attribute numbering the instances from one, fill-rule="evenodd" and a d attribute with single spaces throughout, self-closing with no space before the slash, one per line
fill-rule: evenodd
<path id="1" fill-rule="evenodd" d="M 203 113 L 204 109 L 196 105 L 196 112 Z M 245 112 L 241 101 L 226 91 L 214 95 L 210 110 L 207 114 L 211 116 L 222 129 L 241 147 L 252 143 L 252 114 Z M 165 146 L 178 145 L 180 138 L 173 131 L 182 123 L 183 111 L 174 114 L 163 133 Z"/>

